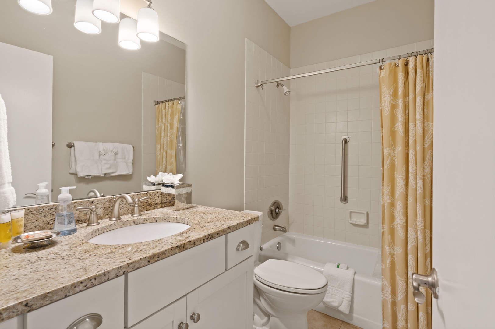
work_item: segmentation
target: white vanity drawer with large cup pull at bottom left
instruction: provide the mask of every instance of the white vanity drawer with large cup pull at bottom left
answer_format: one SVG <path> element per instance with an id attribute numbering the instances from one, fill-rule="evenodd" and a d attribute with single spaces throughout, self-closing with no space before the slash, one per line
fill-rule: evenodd
<path id="1" fill-rule="evenodd" d="M 29 312 L 25 328 L 66 329 L 90 313 L 103 318 L 99 329 L 124 328 L 124 277 L 103 282 Z"/>

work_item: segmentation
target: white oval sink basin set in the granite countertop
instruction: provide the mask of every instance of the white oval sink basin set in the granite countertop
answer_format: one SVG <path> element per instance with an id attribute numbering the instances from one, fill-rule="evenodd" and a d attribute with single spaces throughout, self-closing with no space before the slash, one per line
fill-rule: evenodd
<path id="1" fill-rule="evenodd" d="M 153 222 L 124 226 L 96 235 L 88 242 L 96 244 L 126 244 L 160 239 L 189 229 L 191 226 L 175 222 Z"/>

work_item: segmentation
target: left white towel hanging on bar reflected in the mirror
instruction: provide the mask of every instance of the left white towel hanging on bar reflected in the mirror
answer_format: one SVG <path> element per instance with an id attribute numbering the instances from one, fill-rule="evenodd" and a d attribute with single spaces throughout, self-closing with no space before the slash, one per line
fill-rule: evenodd
<path id="1" fill-rule="evenodd" d="M 91 176 L 103 176 L 101 173 L 101 161 L 99 160 L 98 143 L 90 141 L 75 141 L 70 149 L 69 173 L 77 174 L 77 177 L 91 178 Z"/>

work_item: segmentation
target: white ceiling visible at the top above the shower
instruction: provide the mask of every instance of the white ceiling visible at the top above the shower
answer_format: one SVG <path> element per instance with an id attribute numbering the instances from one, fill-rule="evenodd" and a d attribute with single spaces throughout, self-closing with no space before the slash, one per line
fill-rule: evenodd
<path id="1" fill-rule="evenodd" d="M 289 26 L 328 16 L 374 0 L 265 0 Z"/>

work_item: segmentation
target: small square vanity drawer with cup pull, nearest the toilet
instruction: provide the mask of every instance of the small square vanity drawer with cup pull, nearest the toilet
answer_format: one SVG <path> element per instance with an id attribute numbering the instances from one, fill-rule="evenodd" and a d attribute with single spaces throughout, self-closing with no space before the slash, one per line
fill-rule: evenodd
<path id="1" fill-rule="evenodd" d="M 226 262 L 225 269 L 228 270 L 231 267 L 239 264 L 247 257 L 252 256 L 254 254 L 254 230 L 256 226 L 251 224 L 242 229 L 236 230 L 227 234 L 227 240 L 225 242 L 226 246 Z M 239 246 L 240 249 L 246 246 L 245 243 L 241 243 L 241 241 L 246 241 L 249 244 L 249 247 L 244 250 L 236 250 Z M 259 246 L 257 246 L 259 248 Z"/>

